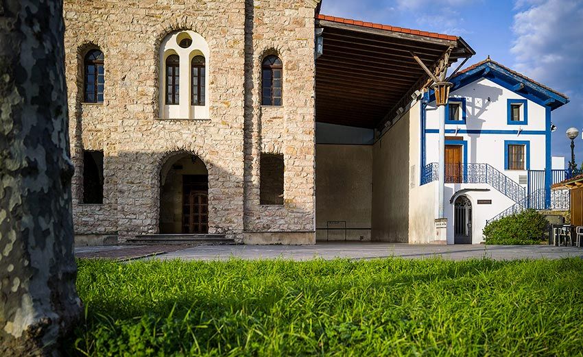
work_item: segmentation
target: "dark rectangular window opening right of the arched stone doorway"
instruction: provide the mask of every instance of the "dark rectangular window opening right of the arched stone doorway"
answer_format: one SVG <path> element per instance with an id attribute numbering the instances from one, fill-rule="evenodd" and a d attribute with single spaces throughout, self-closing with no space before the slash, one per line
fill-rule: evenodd
<path id="1" fill-rule="evenodd" d="M 261 153 L 259 201 L 262 205 L 283 205 L 283 155 Z"/>

